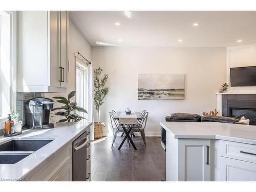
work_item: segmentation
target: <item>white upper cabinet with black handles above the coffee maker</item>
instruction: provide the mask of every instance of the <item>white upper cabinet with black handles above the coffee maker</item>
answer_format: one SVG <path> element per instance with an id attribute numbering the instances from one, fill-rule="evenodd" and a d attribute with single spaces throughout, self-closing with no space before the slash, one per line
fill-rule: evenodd
<path id="1" fill-rule="evenodd" d="M 17 11 L 17 91 L 66 92 L 68 12 Z"/>

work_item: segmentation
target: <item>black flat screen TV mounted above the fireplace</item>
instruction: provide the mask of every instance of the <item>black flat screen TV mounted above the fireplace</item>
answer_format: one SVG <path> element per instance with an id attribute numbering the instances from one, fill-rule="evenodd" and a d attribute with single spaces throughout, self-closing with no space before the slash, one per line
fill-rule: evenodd
<path id="1" fill-rule="evenodd" d="M 256 86 L 256 66 L 230 68 L 231 87 Z"/>

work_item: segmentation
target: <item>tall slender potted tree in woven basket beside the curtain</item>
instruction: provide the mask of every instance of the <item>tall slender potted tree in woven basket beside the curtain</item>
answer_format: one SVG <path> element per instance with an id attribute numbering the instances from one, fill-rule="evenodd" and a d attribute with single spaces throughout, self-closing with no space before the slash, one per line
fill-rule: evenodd
<path id="1" fill-rule="evenodd" d="M 99 67 L 94 70 L 94 98 L 93 102 L 95 109 L 97 110 L 97 122 L 94 122 L 94 138 L 101 138 L 103 136 L 104 123 L 100 122 L 100 107 L 103 104 L 103 100 L 109 92 L 109 88 L 105 88 L 106 80 L 109 75 L 104 74 L 100 79 L 101 72 L 103 70 Z"/>

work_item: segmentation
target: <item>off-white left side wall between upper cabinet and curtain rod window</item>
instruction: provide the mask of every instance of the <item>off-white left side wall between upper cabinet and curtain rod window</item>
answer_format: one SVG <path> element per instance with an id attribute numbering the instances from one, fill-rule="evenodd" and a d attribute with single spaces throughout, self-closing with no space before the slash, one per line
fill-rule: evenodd
<path id="1" fill-rule="evenodd" d="M 91 60 L 91 46 L 89 42 L 83 37 L 83 35 L 74 26 L 71 19 L 69 19 L 69 63 L 70 70 L 68 74 L 68 88 L 67 93 L 46 93 L 45 97 L 52 98 L 54 96 L 68 97 L 71 91 L 76 88 L 75 78 L 76 78 L 76 63 L 74 53 L 79 51 L 84 57 Z M 54 104 L 56 107 L 58 103 Z M 61 119 L 57 117 L 56 120 Z"/>

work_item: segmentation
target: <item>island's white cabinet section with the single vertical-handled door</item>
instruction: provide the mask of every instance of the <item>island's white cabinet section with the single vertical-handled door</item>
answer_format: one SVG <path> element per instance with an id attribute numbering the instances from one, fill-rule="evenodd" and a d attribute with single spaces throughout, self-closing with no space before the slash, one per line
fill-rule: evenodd
<path id="1" fill-rule="evenodd" d="M 166 134 L 166 181 L 210 181 L 210 140 Z"/>

